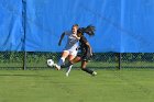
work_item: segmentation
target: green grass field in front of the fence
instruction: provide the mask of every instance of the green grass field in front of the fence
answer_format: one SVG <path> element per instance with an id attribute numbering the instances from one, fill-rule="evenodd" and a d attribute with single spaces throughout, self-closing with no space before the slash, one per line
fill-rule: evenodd
<path id="1" fill-rule="evenodd" d="M 154 102 L 154 70 L 0 70 L 0 102 Z"/>

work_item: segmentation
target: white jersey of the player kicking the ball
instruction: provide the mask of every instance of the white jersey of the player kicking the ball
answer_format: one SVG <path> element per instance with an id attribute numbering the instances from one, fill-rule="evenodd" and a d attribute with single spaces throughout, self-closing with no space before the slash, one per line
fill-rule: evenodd
<path id="1" fill-rule="evenodd" d="M 65 35 L 67 35 L 65 50 L 76 50 L 79 45 L 78 39 L 74 36 L 72 31 L 65 32 Z"/>

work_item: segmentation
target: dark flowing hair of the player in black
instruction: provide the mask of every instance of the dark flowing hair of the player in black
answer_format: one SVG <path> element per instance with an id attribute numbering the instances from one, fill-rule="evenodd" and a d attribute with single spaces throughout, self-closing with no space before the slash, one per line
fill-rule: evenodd
<path id="1" fill-rule="evenodd" d="M 89 36 L 94 36 L 95 35 L 95 31 L 96 31 L 95 26 L 88 25 L 87 27 L 79 27 L 77 32 L 81 33 L 81 34 L 86 33 Z"/>

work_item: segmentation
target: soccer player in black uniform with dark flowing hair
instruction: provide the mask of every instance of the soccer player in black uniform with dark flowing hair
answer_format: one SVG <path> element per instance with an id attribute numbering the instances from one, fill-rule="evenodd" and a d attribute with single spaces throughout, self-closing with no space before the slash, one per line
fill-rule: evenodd
<path id="1" fill-rule="evenodd" d="M 76 63 L 81 61 L 81 70 L 86 71 L 92 76 L 96 76 L 97 72 L 94 70 L 90 70 L 89 68 L 87 68 L 87 64 L 88 60 L 90 59 L 90 57 L 92 56 L 92 48 L 90 46 L 90 44 L 88 43 L 87 38 L 84 36 L 84 34 L 88 34 L 89 36 L 94 36 L 95 35 L 95 26 L 87 26 L 87 27 L 81 27 L 77 31 L 77 36 L 80 37 L 79 43 L 80 43 L 80 49 L 81 49 L 81 55 L 75 57 L 73 60 L 70 60 L 68 64 L 66 64 L 65 66 L 57 66 L 57 69 L 61 69 L 61 67 L 68 67 L 72 66 Z M 68 72 L 69 73 L 69 72 Z M 68 76 L 68 75 L 66 75 Z"/>

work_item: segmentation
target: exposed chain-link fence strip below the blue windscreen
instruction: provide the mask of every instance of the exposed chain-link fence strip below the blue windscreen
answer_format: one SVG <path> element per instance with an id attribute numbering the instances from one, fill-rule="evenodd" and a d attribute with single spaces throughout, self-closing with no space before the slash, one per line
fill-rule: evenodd
<path id="1" fill-rule="evenodd" d="M 1 52 L 0 69 L 48 69 L 47 59 L 55 63 L 61 58 L 61 53 L 26 53 L 26 58 L 22 52 Z M 24 60 L 25 59 L 25 60 Z M 96 53 L 87 67 L 101 69 L 118 69 L 121 60 L 121 68 L 154 68 L 153 53 L 123 53 L 121 58 L 118 53 Z M 75 68 L 80 67 L 80 63 L 74 65 Z"/>

